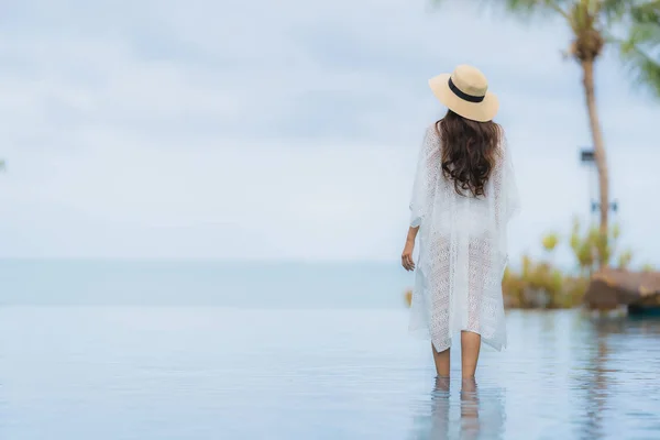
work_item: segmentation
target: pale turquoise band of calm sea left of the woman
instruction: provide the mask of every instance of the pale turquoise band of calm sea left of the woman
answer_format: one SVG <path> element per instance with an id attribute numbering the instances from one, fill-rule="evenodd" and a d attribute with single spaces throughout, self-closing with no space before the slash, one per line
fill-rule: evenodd
<path id="1" fill-rule="evenodd" d="M 413 280 L 396 263 L 0 260 L 0 305 L 398 309 Z"/>

